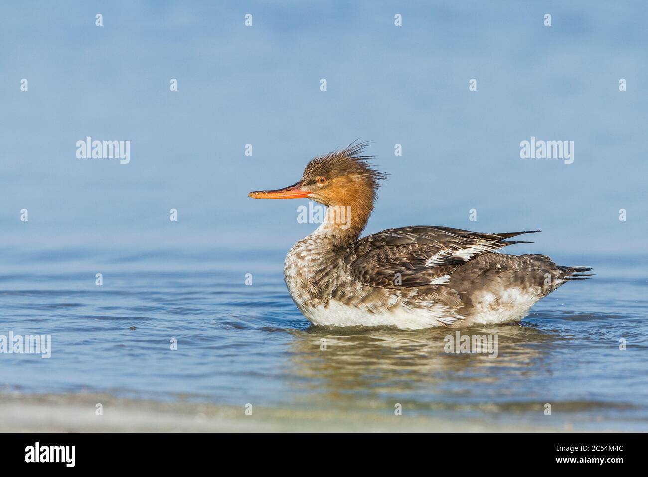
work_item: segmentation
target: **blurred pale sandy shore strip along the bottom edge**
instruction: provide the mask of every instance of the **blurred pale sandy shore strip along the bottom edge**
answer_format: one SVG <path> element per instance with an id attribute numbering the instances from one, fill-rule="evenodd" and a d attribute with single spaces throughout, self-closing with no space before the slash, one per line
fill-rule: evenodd
<path id="1" fill-rule="evenodd" d="M 102 415 L 97 415 L 97 403 Z M 620 430 L 601 423 L 601 431 Z M 570 424 L 537 426 L 395 416 L 364 411 L 253 408 L 156 402 L 105 394 L 0 395 L 1 432 L 564 432 Z"/>

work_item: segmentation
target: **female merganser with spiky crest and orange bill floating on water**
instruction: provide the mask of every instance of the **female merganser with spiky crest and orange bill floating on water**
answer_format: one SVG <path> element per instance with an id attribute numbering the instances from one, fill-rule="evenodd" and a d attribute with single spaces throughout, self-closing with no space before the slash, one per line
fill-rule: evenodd
<path id="1" fill-rule="evenodd" d="M 483 234 L 413 225 L 358 237 L 380 180 L 365 144 L 311 160 L 301 179 L 255 199 L 308 197 L 325 204 L 325 220 L 295 243 L 284 278 L 297 308 L 319 326 L 470 326 L 520 321 L 535 302 L 587 267 L 561 267 L 544 255 L 505 255 L 504 241 L 529 232 Z M 347 214 L 349 211 L 350 214 Z"/>

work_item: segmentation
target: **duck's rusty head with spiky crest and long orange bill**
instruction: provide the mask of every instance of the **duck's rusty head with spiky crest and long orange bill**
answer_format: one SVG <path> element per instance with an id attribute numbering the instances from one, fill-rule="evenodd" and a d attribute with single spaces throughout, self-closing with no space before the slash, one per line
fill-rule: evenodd
<path id="1" fill-rule="evenodd" d="M 301 179 L 292 186 L 270 191 L 254 191 L 254 199 L 295 199 L 308 197 L 328 206 L 354 206 L 373 209 L 376 190 L 386 174 L 372 169 L 367 160 L 373 156 L 362 153 L 365 143 L 352 144 L 343 151 L 313 158 L 305 167 Z"/>

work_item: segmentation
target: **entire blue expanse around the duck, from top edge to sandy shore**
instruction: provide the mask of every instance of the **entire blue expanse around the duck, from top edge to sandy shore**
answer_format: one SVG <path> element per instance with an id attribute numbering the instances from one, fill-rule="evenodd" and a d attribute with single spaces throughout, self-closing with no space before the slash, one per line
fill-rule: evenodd
<path id="1" fill-rule="evenodd" d="M 646 10 L 2 3 L 0 335 L 51 334 L 53 349 L 0 354 L 0 393 L 340 415 L 400 403 L 457 422 L 648 430 Z M 77 158 L 88 136 L 130 141 L 130 162 Z M 520 158 L 531 137 L 574 141 L 573 164 Z M 356 138 L 375 141 L 367 154 L 390 175 L 367 232 L 540 228 L 522 238 L 538 245 L 511 253 L 597 276 L 542 300 L 525 326 L 466 331 L 497 334 L 498 358 L 446 354 L 445 330 L 310 328 L 281 276 L 314 228 L 297 221 L 305 201 L 247 193 L 294 183 Z"/>

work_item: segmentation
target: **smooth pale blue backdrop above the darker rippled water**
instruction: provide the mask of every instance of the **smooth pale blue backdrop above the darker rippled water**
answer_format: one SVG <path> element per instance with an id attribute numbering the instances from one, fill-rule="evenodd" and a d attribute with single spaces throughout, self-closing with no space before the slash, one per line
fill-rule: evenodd
<path id="1" fill-rule="evenodd" d="M 307 201 L 248 191 L 292 184 L 312 156 L 362 138 L 391 175 L 367 232 L 540 228 L 515 252 L 645 254 L 647 13 L 642 1 L 3 3 L 0 245 L 287 251 L 315 226 L 297 223 Z M 130 140 L 130 164 L 76 158 L 86 136 Z M 573 164 L 522 160 L 531 136 L 575 141 Z"/>

